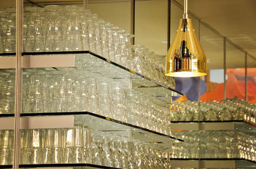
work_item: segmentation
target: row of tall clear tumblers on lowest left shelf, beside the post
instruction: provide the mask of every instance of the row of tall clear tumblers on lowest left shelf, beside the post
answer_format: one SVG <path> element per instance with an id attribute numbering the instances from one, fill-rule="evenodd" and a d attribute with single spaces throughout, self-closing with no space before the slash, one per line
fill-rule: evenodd
<path id="1" fill-rule="evenodd" d="M 21 164 L 86 163 L 87 126 L 21 131 Z"/>

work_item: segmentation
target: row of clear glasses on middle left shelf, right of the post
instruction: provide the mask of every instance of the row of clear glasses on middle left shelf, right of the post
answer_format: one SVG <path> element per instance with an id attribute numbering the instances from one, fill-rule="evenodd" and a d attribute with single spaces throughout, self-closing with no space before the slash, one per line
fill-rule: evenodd
<path id="1" fill-rule="evenodd" d="M 170 135 L 168 107 L 157 98 L 90 71 L 70 71 L 26 70 L 23 113 L 92 112 Z"/>

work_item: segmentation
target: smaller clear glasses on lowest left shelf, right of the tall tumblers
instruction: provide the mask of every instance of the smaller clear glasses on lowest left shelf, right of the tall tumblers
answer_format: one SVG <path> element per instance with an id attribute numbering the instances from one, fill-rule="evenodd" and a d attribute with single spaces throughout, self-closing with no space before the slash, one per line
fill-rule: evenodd
<path id="1" fill-rule="evenodd" d="M 138 140 L 97 132 L 92 137 L 91 151 L 96 165 L 116 168 L 170 168 L 168 158 Z"/>

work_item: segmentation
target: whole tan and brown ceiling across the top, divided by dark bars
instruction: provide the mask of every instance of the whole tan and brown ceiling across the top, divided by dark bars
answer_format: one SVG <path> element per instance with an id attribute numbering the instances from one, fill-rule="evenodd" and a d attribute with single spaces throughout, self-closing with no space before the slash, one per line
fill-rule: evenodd
<path id="1" fill-rule="evenodd" d="M 131 30 L 131 1 L 88 0 L 88 8 L 104 20 Z M 172 0 L 171 40 L 182 17 L 183 0 Z M 26 5 L 83 4 L 81 0 L 24 0 Z M 15 0 L 1 0 L 1 6 L 15 4 Z M 167 0 L 136 0 L 135 43 L 144 45 L 156 54 L 167 52 Z M 189 18 L 193 18 L 196 34 L 209 61 L 209 68 L 223 68 L 223 37 L 256 58 L 256 0 L 189 0 Z M 200 25 L 205 23 L 207 27 Z M 208 29 L 208 26 L 212 29 Z M 216 31 L 218 34 L 216 34 Z M 219 36 L 220 35 L 220 36 Z M 227 43 L 227 66 L 242 68 L 244 54 Z M 248 66 L 256 67 L 256 59 L 248 57 Z"/>

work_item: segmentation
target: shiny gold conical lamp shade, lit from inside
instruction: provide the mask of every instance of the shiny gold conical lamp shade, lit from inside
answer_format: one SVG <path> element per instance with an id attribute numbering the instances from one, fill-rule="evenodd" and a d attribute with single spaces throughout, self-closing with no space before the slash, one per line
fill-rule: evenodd
<path id="1" fill-rule="evenodd" d="M 189 18 L 180 19 L 177 33 L 166 56 L 165 75 L 170 77 L 207 75 L 204 50 Z"/>

